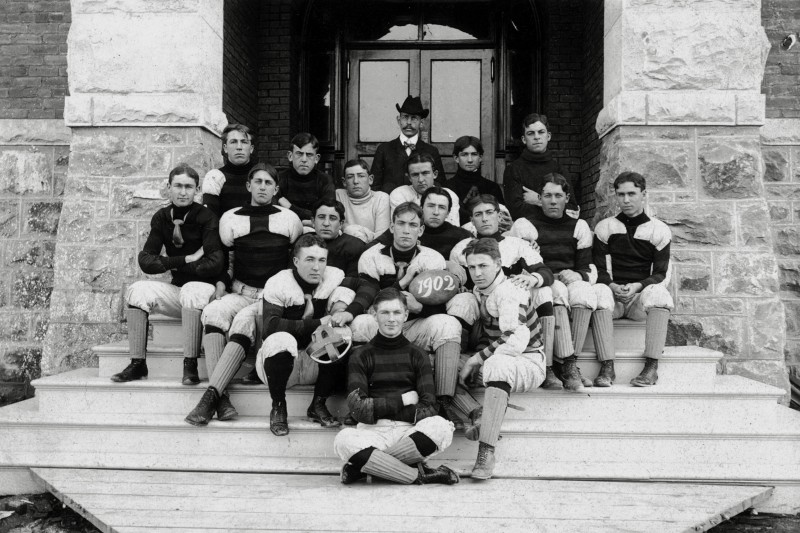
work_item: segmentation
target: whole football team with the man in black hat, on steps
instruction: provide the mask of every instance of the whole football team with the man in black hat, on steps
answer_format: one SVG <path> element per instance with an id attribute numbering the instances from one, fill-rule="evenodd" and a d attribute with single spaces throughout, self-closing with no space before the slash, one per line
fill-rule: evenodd
<path id="1" fill-rule="evenodd" d="M 340 188 L 318 168 L 313 135 L 291 140 L 278 173 L 256 161 L 239 124 L 223 132 L 225 164 L 204 177 L 202 204 L 198 173 L 175 167 L 139 253 L 145 274 L 172 279 L 127 288 L 131 362 L 111 379 L 147 377 L 150 313 L 180 317 L 183 384 L 200 383 L 201 352 L 209 376 L 186 422 L 204 426 L 238 416 L 227 389 L 257 351 L 241 381 L 267 384 L 272 433 L 289 433 L 287 388 L 313 385 L 308 417 L 347 426 L 334 441 L 346 484 L 457 483 L 427 464 L 456 430 L 479 443 L 472 478 L 489 479 L 512 392 L 612 386 L 615 318 L 646 321 L 631 385 L 655 385 L 673 307 L 671 235 L 645 213 L 645 178 L 617 176 L 620 213 L 592 231 L 548 150 L 544 115 L 525 118 L 501 187 L 481 176 L 471 136 L 455 141 L 458 169 L 445 181 L 420 139 L 429 110 L 411 96 L 396 108 L 399 136 L 372 168 L 345 163 Z M 593 379 L 577 366 L 590 324 Z M 339 418 L 327 406 L 337 394 L 349 409 Z"/>

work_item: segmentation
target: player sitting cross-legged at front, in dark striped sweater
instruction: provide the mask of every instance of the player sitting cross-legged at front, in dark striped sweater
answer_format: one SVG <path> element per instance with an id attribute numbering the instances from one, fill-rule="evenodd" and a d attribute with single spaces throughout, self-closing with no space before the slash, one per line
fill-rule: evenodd
<path id="1" fill-rule="evenodd" d="M 353 351 L 348 365 L 347 403 L 358 427 L 343 429 L 333 443 L 345 461 L 342 483 L 367 474 L 406 485 L 458 483 L 458 474 L 448 467 L 425 465 L 450 446 L 454 428 L 436 415 L 428 355 L 403 336 L 405 296 L 383 289 L 371 313 L 378 332 Z"/>

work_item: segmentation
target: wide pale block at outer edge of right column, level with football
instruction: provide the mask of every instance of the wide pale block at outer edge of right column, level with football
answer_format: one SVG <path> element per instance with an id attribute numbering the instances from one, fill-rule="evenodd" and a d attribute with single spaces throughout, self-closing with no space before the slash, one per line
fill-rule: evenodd
<path id="1" fill-rule="evenodd" d="M 778 264 L 772 254 L 722 252 L 715 259 L 717 294 L 764 297 L 778 290 Z"/>

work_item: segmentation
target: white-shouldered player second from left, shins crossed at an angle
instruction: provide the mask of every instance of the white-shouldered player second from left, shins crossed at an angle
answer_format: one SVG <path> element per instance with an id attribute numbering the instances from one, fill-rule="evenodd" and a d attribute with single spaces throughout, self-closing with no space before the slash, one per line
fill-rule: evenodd
<path id="1" fill-rule="evenodd" d="M 303 233 L 297 215 L 272 205 L 278 190 L 276 178 L 277 172 L 271 165 L 254 166 L 247 175 L 250 205 L 231 209 L 220 219 L 220 237 L 222 244 L 231 250 L 231 258 L 228 272 L 217 282 L 217 299 L 203 310 L 203 349 L 209 387 L 186 417 L 190 424 L 208 424 L 207 414 L 213 415 L 214 410 L 219 420 L 237 416 L 225 389 L 256 341 L 264 284 L 286 268 L 289 248 Z M 231 286 L 230 294 L 225 294 L 227 285 Z M 226 333 L 229 333 L 227 345 Z"/>

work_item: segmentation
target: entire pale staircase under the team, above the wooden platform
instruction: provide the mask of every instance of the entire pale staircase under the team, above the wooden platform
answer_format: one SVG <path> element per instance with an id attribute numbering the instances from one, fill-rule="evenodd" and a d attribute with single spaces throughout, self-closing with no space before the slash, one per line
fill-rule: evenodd
<path id="1" fill-rule="evenodd" d="M 264 385 L 230 387 L 238 420 L 186 424 L 205 383 L 179 383 L 179 322 L 151 323 L 149 379 L 112 383 L 108 377 L 127 364 L 127 344 L 102 345 L 95 348 L 99 368 L 36 380 L 35 398 L 0 409 L 0 493 L 30 490 L 31 467 L 338 473 L 336 430 L 305 418 L 311 387 L 288 391 L 285 438 L 269 432 Z M 784 391 L 717 375 L 721 354 L 698 347 L 668 347 L 658 385 L 631 387 L 643 335 L 643 324 L 615 323 L 618 384 L 611 388 L 513 394 L 524 410 L 508 410 L 496 476 L 770 485 L 775 491 L 762 510 L 800 510 L 800 413 L 777 403 Z M 579 366 L 593 377 L 598 365 L 588 337 Z M 475 394 L 480 399 L 482 391 Z M 341 399 L 329 404 L 344 416 Z M 436 460 L 468 474 L 476 451 L 457 434 Z"/>

